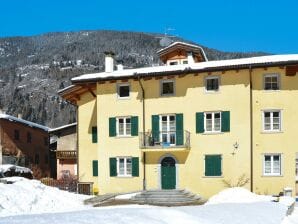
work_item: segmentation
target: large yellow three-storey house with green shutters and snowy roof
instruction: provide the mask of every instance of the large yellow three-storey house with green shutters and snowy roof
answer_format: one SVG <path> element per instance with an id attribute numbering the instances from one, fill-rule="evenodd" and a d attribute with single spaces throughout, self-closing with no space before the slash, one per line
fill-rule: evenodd
<path id="1" fill-rule="evenodd" d="M 100 194 L 210 197 L 238 181 L 256 193 L 294 191 L 298 55 L 207 61 L 185 43 L 158 54 L 164 66 L 117 71 L 107 54 L 105 72 L 60 91 L 78 107 L 79 181 Z"/>

